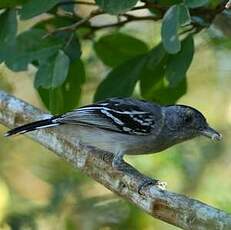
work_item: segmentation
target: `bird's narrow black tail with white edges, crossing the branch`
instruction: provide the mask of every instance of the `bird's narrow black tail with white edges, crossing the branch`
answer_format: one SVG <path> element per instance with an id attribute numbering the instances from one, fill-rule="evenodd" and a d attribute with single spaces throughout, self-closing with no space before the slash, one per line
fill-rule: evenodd
<path id="1" fill-rule="evenodd" d="M 37 129 L 43 129 L 43 128 L 48 128 L 48 127 L 53 127 L 60 125 L 60 123 L 54 122 L 54 117 L 45 119 L 45 120 L 40 120 L 40 121 L 35 121 L 26 125 L 19 126 L 17 128 L 11 129 L 8 132 L 4 134 L 5 137 L 9 137 L 15 134 L 23 134 L 27 132 L 31 132 Z"/>

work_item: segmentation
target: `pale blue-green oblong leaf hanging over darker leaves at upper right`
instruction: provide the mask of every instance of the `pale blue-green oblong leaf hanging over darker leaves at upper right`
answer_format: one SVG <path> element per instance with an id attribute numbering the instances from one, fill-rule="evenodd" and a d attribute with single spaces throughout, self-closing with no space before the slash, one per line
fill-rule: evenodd
<path id="1" fill-rule="evenodd" d="M 171 6 L 165 13 L 162 28 L 161 38 L 164 48 L 168 53 L 177 53 L 181 49 L 180 40 L 178 37 L 179 26 L 179 6 Z"/>

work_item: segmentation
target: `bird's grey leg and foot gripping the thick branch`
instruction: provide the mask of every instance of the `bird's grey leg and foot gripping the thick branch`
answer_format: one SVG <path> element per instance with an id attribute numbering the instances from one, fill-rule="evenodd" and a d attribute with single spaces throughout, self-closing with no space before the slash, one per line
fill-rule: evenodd
<path id="1" fill-rule="evenodd" d="M 141 173 L 139 173 L 137 170 L 134 170 L 132 166 L 127 164 L 123 160 L 124 152 L 119 152 L 115 154 L 113 160 L 112 160 L 112 167 L 114 169 L 117 169 L 123 173 L 129 174 L 132 178 L 135 177 L 137 181 L 139 181 L 137 192 L 141 194 L 142 189 L 144 189 L 147 186 L 158 186 L 160 189 L 165 189 L 166 182 L 161 182 L 156 179 L 152 179 L 150 177 L 145 177 Z"/>

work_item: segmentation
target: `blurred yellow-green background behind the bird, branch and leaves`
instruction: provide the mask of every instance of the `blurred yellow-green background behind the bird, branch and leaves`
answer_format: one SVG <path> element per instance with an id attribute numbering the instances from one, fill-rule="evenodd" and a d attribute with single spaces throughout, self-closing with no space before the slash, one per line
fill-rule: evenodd
<path id="1" fill-rule="evenodd" d="M 31 23 L 20 24 L 20 30 Z M 188 91 L 178 102 L 202 111 L 223 140 L 197 138 L 161 154 L 126 159 L 144 174 L 166 181 L 168 190 L 231 212 L 231 32 L 225 23 L 219 19 L 216 28 L 196 35 Z M 153 46 L 160 40 L 159 27 L 139 22 L 122 31 Z M 85 105 L 108 69 L 90 42 L 82 45 L 88 66 Z M 16 74 L 1 65 L 0 89 L 45 110 L 33 88 L 34 72 L 30 68 Z M 0 229 L 177 229 L 121 200 L 30 139 L 4 138 L 6 130 L 0 126 Z"/>

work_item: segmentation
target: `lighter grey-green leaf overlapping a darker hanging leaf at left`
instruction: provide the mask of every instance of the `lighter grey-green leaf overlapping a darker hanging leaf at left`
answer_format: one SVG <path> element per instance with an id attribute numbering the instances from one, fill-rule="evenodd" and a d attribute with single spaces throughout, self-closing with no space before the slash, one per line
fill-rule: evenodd
<path id="1" fill-rule="evenodd" d="M 68 56 L 63 51 L 50 57 L 39 66 L 34 82 L 35 88 L 54 89 L 61 86 L 67 77 L 69 62 Z"/>

